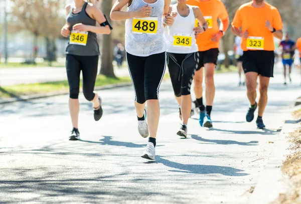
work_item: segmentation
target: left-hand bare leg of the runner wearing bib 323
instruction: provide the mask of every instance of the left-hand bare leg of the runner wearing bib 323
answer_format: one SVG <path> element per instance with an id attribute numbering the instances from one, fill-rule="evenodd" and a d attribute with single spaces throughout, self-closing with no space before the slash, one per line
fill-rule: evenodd
<path id="1" fill-rule="evenodd" d="M 251 105 L 256 103 L 256 87 L 257 87 L 257 77 L 256 72 L 247 72 L 246 76 L 246 87 L 247 87 L 247 96 Z"/>

